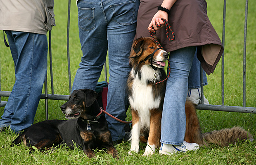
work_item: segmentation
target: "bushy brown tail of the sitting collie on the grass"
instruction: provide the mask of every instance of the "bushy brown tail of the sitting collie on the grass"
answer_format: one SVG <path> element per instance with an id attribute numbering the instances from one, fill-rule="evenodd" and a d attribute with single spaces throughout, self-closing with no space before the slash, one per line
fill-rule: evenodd
<path id="1" fill-rule="evenodd" d="M 203 133 L 203 138 L 206 143 L 214 143 L 220 146 L 228 146 L 229 144 L 235 144 L 238 141 L 241 142 L 247 139 L 250 141 L 254 140 L 253 136 L 248 131 L 238 126 Z"/>

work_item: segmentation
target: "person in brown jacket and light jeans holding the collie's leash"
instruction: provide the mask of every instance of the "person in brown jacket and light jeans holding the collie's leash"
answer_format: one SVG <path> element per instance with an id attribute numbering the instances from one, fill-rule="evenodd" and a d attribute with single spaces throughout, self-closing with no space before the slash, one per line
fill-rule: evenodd
<path id="1" fill-rule="evenodd" d="M 140 3 L 137 37 L 148 37 L 149 31 L 156 30 L 156 38 L 166 52 L 170 52 L 171 73 L 166 82 L 159 154 L 199 149 L 198 144 L 184 141 L 188 77 L 196 50 L 208 75 L 213 73 L 223 53 L 220 38 L 207 16 L 206 6 L 205 0 L 141 0 Z M 174 41 L 168 41 L 164 26 L 156 27 L 155 24 L 164 25 L 161 18 L 171 25 Z"/>

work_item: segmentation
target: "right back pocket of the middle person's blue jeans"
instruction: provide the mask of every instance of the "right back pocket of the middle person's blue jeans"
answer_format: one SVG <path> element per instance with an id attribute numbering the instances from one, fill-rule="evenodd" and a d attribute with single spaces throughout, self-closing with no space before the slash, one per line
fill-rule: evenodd
<path id="1" fill-rule="evenodd" d="M 114 16 L 113 21 L 119 25 L 131 25 L 135 16 L 136 4 L 134 1 L 123 2 L 115 5 L 110 5 Z"/>

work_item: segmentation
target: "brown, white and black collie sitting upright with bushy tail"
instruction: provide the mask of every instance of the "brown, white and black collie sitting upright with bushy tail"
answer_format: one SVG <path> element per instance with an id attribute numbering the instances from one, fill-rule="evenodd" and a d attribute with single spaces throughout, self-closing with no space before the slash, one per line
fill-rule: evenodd
<path id="1" fill-rule="evenodd" d="M 159 148 L 161 138 L 161 115 L 163 110 L 166 82 L 154 84 L 166 78 L 164 71 L 168 53 L 160 49 L 152 38 L 139 38 L 133 42 L 130 53 L 131 71 L 127 81 L 128 99 L 133 117 L 131 148 L 138 153 L 139 142 L 147 143 L 143 156 L 153 154 Z M 226 146 L 252 136 L 240 127 L 201 133 L 199 120 L 192 102 L 186 102 L 185 141 L 199 146 L 215 143 Z"/>

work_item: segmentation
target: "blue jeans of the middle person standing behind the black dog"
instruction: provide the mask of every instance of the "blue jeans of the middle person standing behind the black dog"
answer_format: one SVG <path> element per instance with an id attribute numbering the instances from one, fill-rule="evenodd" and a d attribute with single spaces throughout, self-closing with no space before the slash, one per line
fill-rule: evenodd
<path id="1" fill-rule="evenodd" d="M 95 90 L 109 57 L 109 87 L 106 111 L 125 120 L 128 108 L 126 81 L 130 72 L 130 49 L 136 33 L 139 0 L 79 0 L 78 26 L 83 57 L 76 71 L 72 91 Z M 113 140 L 125 136 L 125 124 L 107 116 Z"/>

